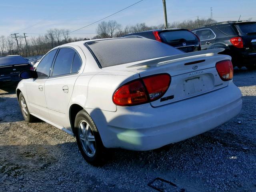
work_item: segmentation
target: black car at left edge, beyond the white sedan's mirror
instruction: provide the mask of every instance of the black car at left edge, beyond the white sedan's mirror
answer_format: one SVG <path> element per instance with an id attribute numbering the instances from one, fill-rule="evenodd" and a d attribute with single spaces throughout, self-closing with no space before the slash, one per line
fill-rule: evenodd
<path id="1" fill-rule="evenodd" d="M 20 81 L 20 72 L 33 69 L 33 66 L 22 56 L 0 56 L 0 85 Z"/>

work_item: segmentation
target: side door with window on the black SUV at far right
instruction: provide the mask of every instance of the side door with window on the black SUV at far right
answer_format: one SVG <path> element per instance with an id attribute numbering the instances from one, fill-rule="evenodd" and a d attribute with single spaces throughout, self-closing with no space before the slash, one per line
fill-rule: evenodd
<path id="1" fill-rule="evenodd" d="M 200 39 L 201 50 L 208 49 L 216 39 L 216 34 L 211 29 L 200 29 L 197 30 L 196 35 Z"/>

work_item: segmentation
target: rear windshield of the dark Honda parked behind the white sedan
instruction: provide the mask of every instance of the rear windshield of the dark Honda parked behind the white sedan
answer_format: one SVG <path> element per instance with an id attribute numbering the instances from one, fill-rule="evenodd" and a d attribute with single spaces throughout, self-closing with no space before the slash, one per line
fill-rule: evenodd
<path id="1" fill-rule="evenodd" d="M 196 36 L 187 30 L 161 32 L 160 37 L 164 43 L 179 42 L 181 39 L 186 41 L 197 40 Z"/>

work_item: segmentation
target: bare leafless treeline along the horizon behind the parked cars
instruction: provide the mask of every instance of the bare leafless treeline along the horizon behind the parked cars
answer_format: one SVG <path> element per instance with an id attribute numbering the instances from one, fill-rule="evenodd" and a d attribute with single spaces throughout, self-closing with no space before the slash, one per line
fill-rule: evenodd
<path id="1" fill-rule="evenodd" d="M 168 24 L 168 28 L 185 28 L 192 30 L 206 24 L 217 22 L 211 19 L 200 20 L 184 20 L 182 22 L 172 22 Z M 129 33 L 141 32 L 153 29 L 162 29 L 164 24 L 158 26 L 148 26 L 146 23 L 138 23 L 135 25 L 122 26 L 115 20 L 108 22 L 102 21 L 96 28 L 97 35 L 92 39 L 98 38 L 113 38 L 120 37 Z M 26 49 L 26 42 L 23 37 L 18 37 L 18 46 L 20 48 L 21 56 L 34 56 L 46 54 L 50 49 L 66 44 L 69 42 L 76 42 L 81 40 L 88 40 L 88 38 L 72 38 L 70 37 L 70 30 L 68 29 L 50 29 L 46 34 L 27 39 L 28 50 Z M 19 54 L 17 42 L 12 36 L 0 36 L 0 55 Z"/>

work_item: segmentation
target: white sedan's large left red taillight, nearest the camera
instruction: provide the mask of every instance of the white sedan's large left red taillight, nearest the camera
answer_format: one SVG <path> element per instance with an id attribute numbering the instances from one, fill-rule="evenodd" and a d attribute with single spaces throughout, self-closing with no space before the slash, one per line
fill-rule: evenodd
<path id="1" fill-rule="evenodd" d="M 170 86 L 169 74 L 159 74 L 128 82 L 118 88 L 113 102 L 120 106 L 132 106 L 161 98 Z"/>

